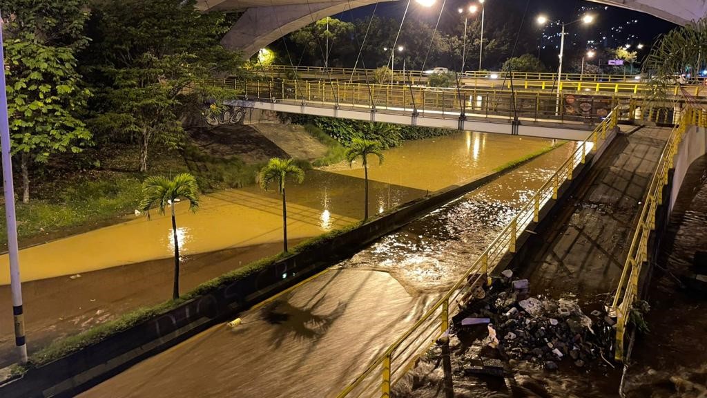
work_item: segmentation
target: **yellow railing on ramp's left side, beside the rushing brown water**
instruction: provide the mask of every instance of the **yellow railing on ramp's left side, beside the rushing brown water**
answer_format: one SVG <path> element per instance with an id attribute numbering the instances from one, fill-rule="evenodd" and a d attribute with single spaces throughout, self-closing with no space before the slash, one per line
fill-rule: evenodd
<path id="1" fill-rule="evenodd" d="M 578 142 L 570 157 L 520 209 L 462 278 L 381 356 L 373 360 L 366 371 L 356 377 L 338 398 L 390 397 L 392 386 L 449 328 L 450 319 L 459 311 L 460 306 L 464 305 L 481 285 L 491 283 L 489 275 L 498 266 L 501 258 L 508 252 L 515 253 L 520 234 L 531 222 L 539 221 L 543 205 L 549 200 L 557 199 L 560 186 L 565 181 L 572 180 L 575 167 L 583 164 L 587 155 L 599 148 L 600 140 L 604 140 L 607 132 L 616 127 L 619 112 L 619 107 L 614 108 L 583 142 Z"/>

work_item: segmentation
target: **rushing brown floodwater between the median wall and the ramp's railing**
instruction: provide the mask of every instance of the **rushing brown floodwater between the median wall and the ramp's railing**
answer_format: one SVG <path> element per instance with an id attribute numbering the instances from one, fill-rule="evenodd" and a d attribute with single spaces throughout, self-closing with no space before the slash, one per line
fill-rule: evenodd
<path id="1" fill-rule="evenodd" d="M 525 141 L 525 140 L 524 140 Z M 214 326 L 81 397 L 327 397 L 470 266 L 566 144 L 388 235 L 308 283 Z"/>

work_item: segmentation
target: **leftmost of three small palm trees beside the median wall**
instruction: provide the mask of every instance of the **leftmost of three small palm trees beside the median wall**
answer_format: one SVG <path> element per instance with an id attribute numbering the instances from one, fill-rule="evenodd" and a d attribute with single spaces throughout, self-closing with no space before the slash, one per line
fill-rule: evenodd
<path id="1" fill-rule="evenodd" d="M 179 241 L 177 239 L 177 221 L 175 219 L 175 203 L 181 198 L 189 200 L 189 210 L 196 212 L 199 208 L 199 186 L 197 179 L 191 174 L 181 173 L 174 178 L 164 176 L 148 177 L 142 183 L 142 202 L 140 210 L 147 212 L 157 207 L 160 214 L 165 214 L 165 207 L 172 210 L 172 234 L 175 239 L 175 282 L 172 298 L 179 297 Z"/>

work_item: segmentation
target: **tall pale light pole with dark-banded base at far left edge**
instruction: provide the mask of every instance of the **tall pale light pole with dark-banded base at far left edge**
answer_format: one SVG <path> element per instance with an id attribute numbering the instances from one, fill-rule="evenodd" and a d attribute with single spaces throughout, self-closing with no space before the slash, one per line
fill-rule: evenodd
<path id="1" fill-rule="evenodd" d="M 17 245 L 17 220 L 15 218 L 15 187 L 12 180 L 12 156 L 10 152 L 10 125 L 7 115 L 7 91 L 5 89 L 5 53 L 2 30 L 5 23 L 0 16 L 0 146 L 2 147 L 2 175 L 5 193 L 5 220 L 7 222 L 7 249 L 10 257 L 10 290 L 12 313 L 15 323 L 15 345 L 21 363 L 27 363 L 25 342 L 25 319 L 22 308 L 22 285 L 20 282 L 20 260 Z"/>

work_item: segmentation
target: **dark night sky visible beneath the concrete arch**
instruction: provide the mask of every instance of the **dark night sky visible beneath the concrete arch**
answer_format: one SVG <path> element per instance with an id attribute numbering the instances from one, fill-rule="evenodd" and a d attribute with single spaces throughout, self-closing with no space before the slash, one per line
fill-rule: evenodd
<path id="1" fill-rule="evenodd" d="M 434 25 L 443 3 L 445 3 L 444 0 L 438 0 L 435 6 L 424 8 L 412 1 L 407 17 L 408 22 L 406 23 L 423 20 Z M 457 9 L 474 3 L 478 4 L 478 1 L 447 0 L 440 26 L 443 27 L 447 23 L 458 21 L 460 15 Z M 493 7 L 496 15 L 491 12 L 492 9 L 489 6 L 491 3 L 496 3 L 496 6 Z M 502 4 L 502 6 L 498 6 L 498 4 Z M 666 33 L 675 26 L 672 23 L 638 11 L 604 6 L 603 4 L 582 0 L 530 0 L 529 2 L 527 0 L 486 0 L 486 18 L 503 18 L 503 15 L 498 15 L 499 9 L 515 8 L 518 13 L 522 14 L 526 5 L 528 9 L 525 24 L 532 25 L 535 25 L 535 18 L 540 13 L 548 16 L 551 20 L 563 22 L 573 21 L 587 11 L 593 13 L 597 19 L 592 25 L 588 27 L 573 25 L 571 29 L 568 29 L 568 38 L 575 40 L 578 45 L 586 44 L 588 48 L 619 47 L 626 44 L 631 44 L 635 48 L 635 45 L 642 43 L 645 45 L 643 51 L 646 51 L 658 35 Z M 380 3 L 378 4 L 376 15 L 399 19 L 402 18 L 405 6 L 407 6 L 407 1 L 404 0 Z M 372 5 L 354 10 L 354 18 L 370 18 L 373 8 L 374 6 Z M 348 11 L 336 17 L 346 21 L 351 20 Z M 520 29 L 520 26 L 518 28 Z M 539 45 L 547 48 L 559 46 L 558 27 L 550 26 L 545 29 L 537 27 L 535 29 L 538 34 Z M 593 42 L 588 42 L 588 40 L 593 40 Z"/>

